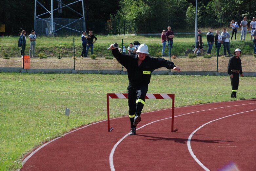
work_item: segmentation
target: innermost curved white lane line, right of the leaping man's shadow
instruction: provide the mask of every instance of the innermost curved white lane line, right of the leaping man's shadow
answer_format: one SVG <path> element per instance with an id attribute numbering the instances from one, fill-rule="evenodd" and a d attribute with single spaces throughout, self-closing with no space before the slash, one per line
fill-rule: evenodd
<path id="1" fill-rule="evenodd" d="M 254 110 L 249 110 L 249 111 L 245 111 L 245 112 L 240 112 L 240 113 L 228 115 L 228 116 L 226 116 L 226 117 L 231 117 L 231 116 L 234 116 L 234 115 L 238 115 L 238 114 L 242 114 L 242 113 L 246 113 L 246 112 L 251 112 L 251 111 L 255 111 L 255 110 L 256 110 L 256 109 L 254 109 Z M 194 159 L 203 169 L 205 169 L 205 170 L 207 170 L 207 171 L 209 171 L 209 169 L 208 169 L 202 162 L 200 162 L 200 160 L 199 160 L 199 159 L 195 156 L 195 154 L 193 153 L 193 150 L 192 150 L 191 144 L 190 144 L 191 139 L 192 139 L 192 136 L 193 136 L 198 130 L 200 130 L 201 128 L 203 128 L 204 126 L 206 126 L 207 124 L 209 124 L 209 123 L 211 123 L 211 122 L 214 122 L 214 121 L 217 121 L 217 120 L 220 120 L 220 119 L 223 119 L 223 118 L 226 118 L 226 117 L 221 117 L 221 118 L 219 118 L 219 119 L 215 119 L 215 120 L 212 120 L 212 121 L 209 121 L 209 122 L 203 124 L 202 126 L 198 127 L 195 131 L 193 131 L 193 132 L 189 135 L 189 137 L 188 137 L 188 139 L 187 139 L 187 148 L 188 148 L 188 151 L 189 151 L 190 155 L 193 157 L 193 159 Z"/>

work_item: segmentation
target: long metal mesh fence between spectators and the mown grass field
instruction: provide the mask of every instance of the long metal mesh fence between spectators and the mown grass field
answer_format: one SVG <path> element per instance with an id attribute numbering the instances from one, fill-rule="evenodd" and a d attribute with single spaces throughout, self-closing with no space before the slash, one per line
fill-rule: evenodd
<path id="1" fill-rule="evenodd" d="M 123 46 L 128 48 L 130 42 L 138 40 L 123 40 Z M 38 37 L 35 46 L 35 57 L 30 58 L 30 69 L 75 69 L 75 70 L 125 70 L 117 60 L 113 57 L 111 51 L 107 48 L 111 43 L 118 43 L 122 46 L 122 40 L 100 40 L 94 43 L 93 54 L 96 59 L 92 59 L 91 49 L 89 48 L 88 57 L 81 58 L 82 44 L 81 38 L 76 37 Z M 17 47 L 18 37 L 2 37 L 0 38 L 0 67 L 22 68 L 21 49 Z M 149 49 L 149 55 L 157 57 L 161 54 L 162 43 L 159 41 L 144 41 Z M 226 72 L 229 57 L 217 57 L 216 49 L 213 47 L 211 58 L 198 56 L 189 58 L 184 56 L 187 48 L 193 45 L 193 42 L 174 42 L 172 47 L 172 55 L 176 58 L 164 57 L 174 62 L 176 66 L 181 67 L 182 71 L 217 71 Z M 207 47 L 205 47 L 207 49 Z M 27 38 L 25 55 L 29 55 L 30 44 Z M 231 49 L 233 52 L 233 49 Z M 126 53 L 128 53 L 126 49 Z M 168 54 L 168 47 L 165 50 Z M 223 54 L 223 48 L 221 53 Z M 41 58 L 47 56 L 47 58 Z M 75 58 L 75 59 L 74 59 Z M 109 59 L 110 58 L 110 59 Z M 242 66 L 245 72 L 256 71 L 256 58 L 253 55 L 242 55 Z M 167 70 L 160 68 L 158 70 Z"/>

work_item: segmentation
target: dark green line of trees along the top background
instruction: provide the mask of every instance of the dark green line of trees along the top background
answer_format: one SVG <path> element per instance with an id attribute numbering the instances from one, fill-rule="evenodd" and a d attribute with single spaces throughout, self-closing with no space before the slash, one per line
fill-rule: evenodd
<path id="1" fill-rule="evenodd" d="M 50 0 L 37 0 L 50 10 Z M 69 4 L 74 1 L 62 0 Z M 255 0 L 198 0 L 198 28 L 229 26 L 231 20 L 240 23 L 244 16 L 247 21 L 255 16 Z M 34 1 L 2 0 L 0 2 L 0 25 L 5 24 L 6 32 L 0 35 L 19 35 L 34 29 Z M 57 8 L 57 0 L 53 1 Z M 46 10 L 37 3 L 37 13 Z M 70 7 L 82 13 L 81 3 Z M 195 28 L 195 1 L 193 0 L 84 0 L 87 31 L 94 34 L 116 34 L 115 29 L 130 27 L 136 33 L 159 33 L 167 26 L 176 32 L 193 32 Z M 40 16 L 49 17 L 49 14 Z M 54 11 L 54 18 L 76 18 L 76 13 L 63 9 Z M 125 28 L 123 28 L 125 29 Z M 189 31 L 188 31 L 189 30 Z M 125 31 L 125 30 L 124 30 Z"/>

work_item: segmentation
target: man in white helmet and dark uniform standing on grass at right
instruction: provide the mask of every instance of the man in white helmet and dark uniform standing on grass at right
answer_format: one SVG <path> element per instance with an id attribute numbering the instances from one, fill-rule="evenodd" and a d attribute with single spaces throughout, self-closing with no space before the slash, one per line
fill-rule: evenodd
<path id="1" fill-rule="evenodd" d="M 244 76 L 242 71 L 241 59 L 239 57 L 241 53 L 241 50 L 237 48 L 234 52 L 234 56 L 231 57 L 228 61 L 227 73 L 230 75 L 232 87 L 231 98 L 236 98 L 236 92 L 239 85 L 239 74 L 241 75 L 241 77 Z"/>

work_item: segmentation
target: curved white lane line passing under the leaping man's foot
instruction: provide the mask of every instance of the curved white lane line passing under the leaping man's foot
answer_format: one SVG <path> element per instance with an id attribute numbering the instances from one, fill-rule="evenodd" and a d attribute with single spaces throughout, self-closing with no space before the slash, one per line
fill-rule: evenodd
<path id="1" fill-rule="evenodd" d="M 208 104 L 208 103 L 207 103 Z M 247 103 L 247 104 L 255 104 L 255 103 Z M 196 113 L 196 112 L 203 112 L 203 111 L 207 111 L 207 110 L 214 110 L 214 109 L 221 109 L 221 108 L 226 108 L 226 107 L 233 107 L 233 106 L 242 106 L 242 105 L 247 105 L 247 104 L 238 104 L 238 105 L 232 105 L 232 106 L 224 106 L 224 107 L 217 107 L 217 108 L 212 108 L 212 109 L 206 109 L 206 110 L 200 110 L 200 111 L 195 111 L 195 112 L 190 112 L 190 113 L 187 113 L 187 114 L 182 114 L 182 115 L 178 115 L 178 116 L 175 116 L 175 117 L 180 117 L 180 116 L 183 116 L 183 115 L 188 115 L 188 114 L 192 114 L 192 113 Z M 186 107 L 186 106 L 185 106 Z M 256 110 L 256 109 L 255 109 Z M 140 128 L 136 129 L 136 130 L 139 130 L 145 126 L 148 126 L 152 123 L 155 123 L 155 122 L 158 122 L 158 121 L 162 121 L 162 120 L 165 120 L 165 119 L 169 119 L 171 117 L 167 117 L 167 118 L 164 118 L 164 119 L 160 119 L 160 120 L 156 120 L 156 121 L 153 121 L 153 122 L 150 122 L 146 125 L 143 125 L 141 126 Z M 114 167 L 114 162 L 113 162 L 113 156 L 114 156 L 114 152 L 115 152 L 115 149 L 117 148 L 117 146 L 128 136 L 128 134 L 126 134 L 125 136 L 123 136 L 123 138 L 121 138 L 112 148 L 111 152 L 110 152 L 110 155 L 109 155 L 109 166 L 110 166 L 110 169 L 111 171 L 115 171 L 115 167 Z M 200 161 L 199 161 L 200 162 Z"/>

